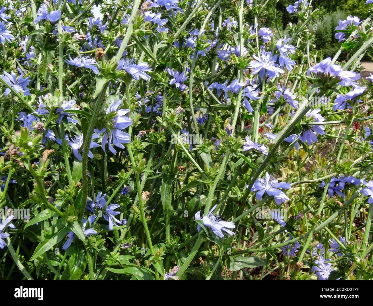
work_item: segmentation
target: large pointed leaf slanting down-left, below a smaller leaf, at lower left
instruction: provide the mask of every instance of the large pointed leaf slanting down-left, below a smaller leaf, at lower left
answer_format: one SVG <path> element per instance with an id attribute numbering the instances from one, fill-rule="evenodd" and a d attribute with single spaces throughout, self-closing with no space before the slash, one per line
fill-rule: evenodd
<path id="1" fill-rule="evenodd" d="M 68 232 L 70 232 L 69 226 L 63 224 L 63 219 L 59 219 L 56 226 L 52 226 L 44 237 L 44 240 L 38 244 L 30 261 L 37 259 L 44 252 L 50 250 L 50 248 L 65 238 Z"/>

